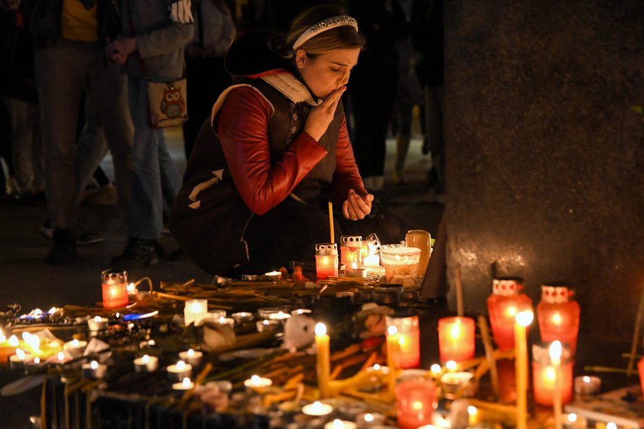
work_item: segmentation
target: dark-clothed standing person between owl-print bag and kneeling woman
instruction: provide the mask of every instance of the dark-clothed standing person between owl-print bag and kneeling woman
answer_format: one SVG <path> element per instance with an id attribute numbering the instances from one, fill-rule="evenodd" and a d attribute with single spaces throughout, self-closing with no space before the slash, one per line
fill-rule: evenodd
<path id="1" fill-rule="evenodd" d="M 188 111 L 183 124 L 186 160 L 195 140 L 210 116 L 212 105 L 222 90 L 230 85 L 224 68 L 224 55 L 237 34 L 231 10 L 224 0 L 193 0 L 195 38 L 186 46 L 186 78 L 188 80 Z"/>

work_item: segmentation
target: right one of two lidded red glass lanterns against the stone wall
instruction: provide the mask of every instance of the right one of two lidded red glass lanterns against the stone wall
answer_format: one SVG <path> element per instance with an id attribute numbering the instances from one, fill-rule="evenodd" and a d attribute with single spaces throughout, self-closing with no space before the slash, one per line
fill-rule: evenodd
<path id="1" fill-rule="evenodd" d="M 541 302 L 537 305 L 537 318 L 541 341 L 561 341 L 570 347 L 571 354 L 577 349 L 580 308 L 571 287 L 549 284 L 541 287 Z"/>

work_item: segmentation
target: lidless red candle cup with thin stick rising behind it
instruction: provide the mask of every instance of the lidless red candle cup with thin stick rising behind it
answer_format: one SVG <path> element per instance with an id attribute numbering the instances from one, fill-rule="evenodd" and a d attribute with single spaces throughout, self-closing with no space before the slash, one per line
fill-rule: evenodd
<path id="1" fill-rule="evenodd" d="M 474 357 L 474 319 L 444 317 L 438 320 L 441 362 L 462 362 Z"/>

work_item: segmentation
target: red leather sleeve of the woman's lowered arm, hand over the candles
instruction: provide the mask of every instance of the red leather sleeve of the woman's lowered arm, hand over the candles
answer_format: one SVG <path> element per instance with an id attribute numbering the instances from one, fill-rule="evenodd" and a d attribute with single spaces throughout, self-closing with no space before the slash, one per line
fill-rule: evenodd
<path id="1" fill-rule="evenodd" d="M 367 193 L 353 156 L 346 119 L 343 119 L 340 125 L 335 157 L 336 167 L 333 172 L 331 198 L 333 199 L 333 204 L 339 204 L 336 207 L 342 207 L 341 204 L 347 199 L 350 189 L 353 189 L 356 193 Z"/>

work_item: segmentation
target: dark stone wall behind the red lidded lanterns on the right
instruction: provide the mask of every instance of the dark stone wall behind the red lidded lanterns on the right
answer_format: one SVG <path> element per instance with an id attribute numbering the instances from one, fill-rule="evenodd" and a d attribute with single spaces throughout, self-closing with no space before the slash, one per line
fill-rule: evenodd
<path id="1" fill-rule="evenodd" d="M 644 2 L 445 1 L 448 281 L 578 286 L 629 338 L 644 289 Z M 451 300 L 455 294 L 450 294 Z M 455 308 L 455 306 L 453 306 Z"/>

